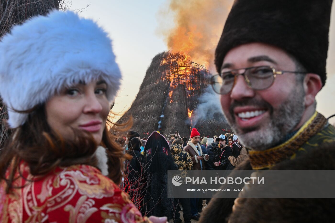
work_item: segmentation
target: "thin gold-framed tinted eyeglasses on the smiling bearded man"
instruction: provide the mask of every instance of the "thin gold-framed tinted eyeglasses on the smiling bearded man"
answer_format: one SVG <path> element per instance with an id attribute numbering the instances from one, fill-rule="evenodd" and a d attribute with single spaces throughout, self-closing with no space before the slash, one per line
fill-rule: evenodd
<path id="1" fill-rule="evenodd" d="M 243 73 L 239 73 L 244 70 Z M 254 90 L 265 90 L 273 84 L 276 75 L 284 73 L 304 74 L 301 71 L 276 71 L 272 66 L 258 66 L 234 69 L 212 76 L 210 84 L 218 94 L 228 94 L 236 83 L 239 75 L 244 76 L 247 85 Z"/>

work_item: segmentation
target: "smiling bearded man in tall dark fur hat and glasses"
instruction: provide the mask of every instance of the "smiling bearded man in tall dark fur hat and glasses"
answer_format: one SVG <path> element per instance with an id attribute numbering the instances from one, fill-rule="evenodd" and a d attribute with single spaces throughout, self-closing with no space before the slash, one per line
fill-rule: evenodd
<path id="1" fill-rule="evenodd" d="M 331 5 L 332 0 L 234 2 L 216 48 L 219 76 L 212 85 L 248 148 L 249 158 L 237 169 L 335 169 L 335 129 L 316 111 L 315 100 L 326 82 Z M 332 222 L 334 204 L 335 199 L 216 198 L 200 221 Z"/>

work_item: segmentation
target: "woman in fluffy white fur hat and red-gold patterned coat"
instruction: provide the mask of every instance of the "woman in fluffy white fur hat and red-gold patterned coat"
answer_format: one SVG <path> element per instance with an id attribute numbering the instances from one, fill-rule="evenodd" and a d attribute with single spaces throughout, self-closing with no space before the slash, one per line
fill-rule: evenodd
<path id="1" fill-rule="evenodd" d="M 117 185 L 128 157 L 106 121 L 120 79 L 107 33 L 73 12 L 4 36 L 0 95 L 13 134 L 0 157 L 0 222 L 164 222 L 143 218 Z"/>

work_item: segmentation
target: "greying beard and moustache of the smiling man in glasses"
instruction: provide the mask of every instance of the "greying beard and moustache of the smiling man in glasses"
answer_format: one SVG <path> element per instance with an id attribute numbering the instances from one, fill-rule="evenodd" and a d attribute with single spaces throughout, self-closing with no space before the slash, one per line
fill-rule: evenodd
<path id="1" fill-rule="evenodd" d="M 293 131 L 302 119 L 305 110 L 305 92 L 302 84 L 296 86 L 288 95 L 288 98 L 276 109 L 268 102 L 255 98 L 234 101 L 230 105 L 229 117 L 226 114 L 225 117 L 243 145 L 254 150 L 266 150 L 277 145 L 287 134 Z M 246 105 L 257 105 L 267 108 L 270 114 L 270 121 L 260 127 L 240 129 L 236 124 L 233 108 Z"/>

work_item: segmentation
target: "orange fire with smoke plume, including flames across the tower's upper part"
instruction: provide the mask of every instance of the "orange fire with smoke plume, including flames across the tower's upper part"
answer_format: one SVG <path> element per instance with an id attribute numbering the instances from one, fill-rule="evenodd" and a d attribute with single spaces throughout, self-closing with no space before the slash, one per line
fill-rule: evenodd
<path id="1" fill-rule="evenodd" d="M 186 92 L 187 106 L 200 92 L 201 82 L 194 75 L 196 70 L 209 68 L 215 70 L 214 51 L 222 33 L 225 18 L 230 11 L 233 0 L 167 0 L 164 5 L 161 18 L 159 18 L 158 33 L 161 33 L 171 52 L 161 61 L 161 65 L 167 66 L 162 75 L 162 81 L 166 81 L 169 87 L 166 94 L 170 103 L 177 103 L 174 95 L 175 89 L 184 88 Z M 170 26 L 173 16 L 174 26 Z M 192 61 L 196 61 L 196 64 Z M 195 67 L 194 67 L 195 66 Z M 181 92 L 181 91 L 180 91 Z M 176 91 L 177 93 L 177 91 Z M 176 98 L 176 99 L 175 99 Z M 192 112 L 188 108 L 188 117 L 192 125 Z M 191 130 L 191 127 L 190 127 Z"/>

